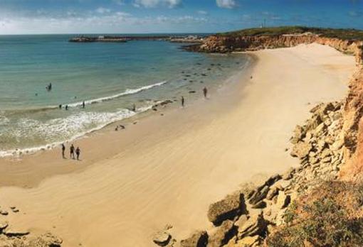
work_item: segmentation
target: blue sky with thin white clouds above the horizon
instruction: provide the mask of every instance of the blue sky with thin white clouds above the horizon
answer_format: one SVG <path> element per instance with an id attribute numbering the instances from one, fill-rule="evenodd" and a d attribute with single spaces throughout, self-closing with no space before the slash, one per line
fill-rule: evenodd
<path id="1" fill-rule="evenodd" d="M 363 29 L 360 0 L 0 0 L 0 34 L 214 33 L 303 25 Z"/>

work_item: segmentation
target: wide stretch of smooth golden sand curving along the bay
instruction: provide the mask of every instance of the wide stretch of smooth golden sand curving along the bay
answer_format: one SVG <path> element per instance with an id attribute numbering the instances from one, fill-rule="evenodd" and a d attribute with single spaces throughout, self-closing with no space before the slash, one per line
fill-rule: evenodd
<path id="1" fill-rule="evenodd" d="M 165 224 L 179 239 L 208 227 L 211 202 L 297 165 L 285 152 L 293 128 L 313 104 L 344 97 L 354 70 L 354 57 L 322 45 L 253 54 L 253 79 L 248 74 L 212 99 L 144 119 L 118 155 L 31 189 L 1 187 L 1 206 L 21 209 L 8 219 L 33 232 L 50 230 L 64 246 L 152 246 L 152 233 Z M 101 141 L 93 136 L 83 146 L 98 143 L 102 155 L 110 144 Z M 46 163 L 42 157 L 34 159 Z"/>

